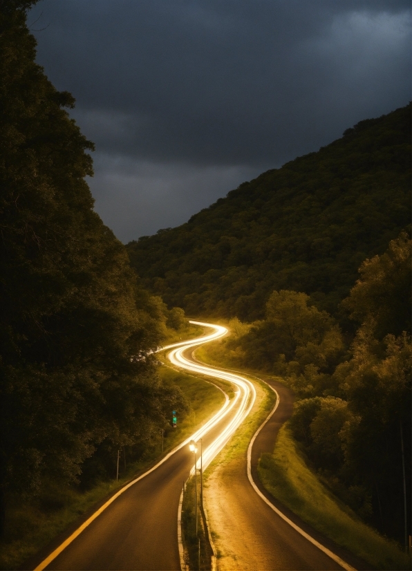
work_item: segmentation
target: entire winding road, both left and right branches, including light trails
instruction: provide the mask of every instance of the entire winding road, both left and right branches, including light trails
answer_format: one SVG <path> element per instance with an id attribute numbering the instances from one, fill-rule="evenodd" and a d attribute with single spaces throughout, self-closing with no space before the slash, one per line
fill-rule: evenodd
<path id="1" fill-rule="evenodd" d="M 222 337 L 227 330 L 199 321 L 191 323 L 212 328 L 213 333 L 162 350 L 170 351 L 168 358 L 175 366 L 231 382 L 235 386 L 234 397 L 226 396 L 225 403 L 209 422 L 168 453 L 158 465 L 120 489 L 59 545 L 49 547 L 47 556 L 43 554 L 33 565 L 35 571 L 180 570 L 178 504 L 182 485 L 193 471 L 193 455 L 187 444 L 191 439 L 203 438 L 205 469 L 245 420 L 256 398 L 250 380 L 237 373 L 205 366 L 191 357 L 196 346 Z M 277 410 L 250 447 L 249 469 L 245 462 L 223 502 L 223 514 L 224 505 L 228 500 L 230 502 L 228 518 L 232 519 L 228 525 L 232 534 L 238 535 L 239 545 L 249 546 L 250 565 L 245 562 L 245 566 L 236 568 L 256 571 L 353 570 L 355 567 L 346 563 L 350 558 L 348 554 L 337 554 L 333 545 L 324 547 L 327 542 L 322 541 L 323 538 L 315 537 L 314 532 L 305 528 L 293 514 L 285 514 L 284 509 L 281 511 L 281 506 L 275 505 L 273 498 L 259 485 L 257 460 L 262 451 L 272 451 L 277 430 L 292 409 L 287 389 L 277 386 L 274 390 L 280 396 Z M 256 550 L 261 550 L 257 559 Z M 245 553 L 247 556 L 247 550 Z"/>

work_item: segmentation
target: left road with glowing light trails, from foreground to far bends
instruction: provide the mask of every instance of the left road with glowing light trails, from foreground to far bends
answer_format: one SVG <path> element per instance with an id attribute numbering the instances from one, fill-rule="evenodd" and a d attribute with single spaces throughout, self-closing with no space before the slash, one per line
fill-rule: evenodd
<path id="1" fill-rule="evenodd" d="M 171 349 L 169 358 L 178 366 L 192 367 L 185 351 L 227 333 L 221 326 L 199 325 L 212 328 L 213 333 L 162 348 Z M 197 372 L 212 376 L 206 369 Z M 228 377 L 228 373 L 222 373 L 222 378 Z M 238 384 L 238 391 L 231 400 L 226 398 L 209 422 L 154 469 L 112 496 L 65 541 L 44 559 L 41 557 L 33 565 L 35 570 L 180 570 L 178 503 L 182 485 L 193 469 L 193 455 L 185 444 L 192 438 L 203 438 L 204 465 L 225 445 L 254 402 L 252 383 L 241 377 L 233 382 Z"/>

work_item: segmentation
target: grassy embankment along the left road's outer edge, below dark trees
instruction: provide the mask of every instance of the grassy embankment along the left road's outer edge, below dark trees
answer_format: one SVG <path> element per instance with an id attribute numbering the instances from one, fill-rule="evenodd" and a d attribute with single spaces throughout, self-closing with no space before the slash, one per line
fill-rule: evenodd
<path id="1" fill-rule="evenodd" d="M 202 333 L 196 328 L 191 337 L 196 337 L 199 332 Z M 165 432 L 164 451 L 167 453 L 218 410 L 224 402 L 224 397 L 215 386 L 198 377 L 174 371 L 166 366 L 160 366 L 159 369 L 162 381 L 165 384 L 177 384 L 190 407 L 189 413 L 178 417 L 177 429 Z M 118 482 L 113 479 L 105 480 L 87 491 L 82 491 L 74 485 L 60 487 L 50 481 L 47 487 L 41 489 L 35 500 L 8 506 L 6 535 L 0 543 L 0 568 L 18 568 L 57 534 L 64 532 L 68 525 L 77 519 L 81 521 L 88 513 L 93 513 L 96 504 L 102 503 L 134 476 L 142 474 L 161 456 L 162 439 L 159 433 L 138 462 L 133 462 L 126 468 L 123 462 L 120 462 L 122 471 Z"/>

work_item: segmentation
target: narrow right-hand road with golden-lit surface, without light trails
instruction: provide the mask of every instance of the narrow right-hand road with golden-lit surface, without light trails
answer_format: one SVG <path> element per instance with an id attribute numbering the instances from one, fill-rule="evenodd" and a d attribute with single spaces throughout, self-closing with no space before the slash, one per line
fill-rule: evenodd
<path id="1" fill-rule="evenodd" d="M 292 393 L 273 382 L 280 404 L 252 447 L 252 477 L 259 489 L 283 514 L 346 563 L 346 568 L 368 569 L 363 561 L 312 530 L 277 502 L 259 483 L 257 462 L 272 452 L 279 428 L 292 413 Z M 341 570 L 342 566 L 286 523 L 261 499 L 247 478 L 246 455 L 219 465 L 205 491 L 209 521 L 220 551 L 219 571 Z M 370 569 L 370 568 L 369 568 Z"/>

